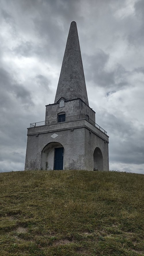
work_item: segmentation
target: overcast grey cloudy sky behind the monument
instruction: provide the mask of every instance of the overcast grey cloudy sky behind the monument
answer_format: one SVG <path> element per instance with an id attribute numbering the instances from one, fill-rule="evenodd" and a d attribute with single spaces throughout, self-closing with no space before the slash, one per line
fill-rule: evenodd
<path id="1" fill-rule="evenodd" d="M 0 0 L 0 171 L 24 170 L 27 127 L 54 103 L 71 21 L 110 170 L 144 173 L 144 0 Z"/>

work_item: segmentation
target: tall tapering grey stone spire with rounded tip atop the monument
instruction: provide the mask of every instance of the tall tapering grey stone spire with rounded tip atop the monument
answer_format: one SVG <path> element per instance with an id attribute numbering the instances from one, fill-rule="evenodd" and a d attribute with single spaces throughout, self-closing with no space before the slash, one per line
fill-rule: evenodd
<path id="1" fill-rule="evenodd" d="M 69 29 L 54 103 L 61 97 L 64 97 L 67 100 L 81 98 L 87 105 L 89 105 L 79 37 L 75 21 L 71 22 Z"/>

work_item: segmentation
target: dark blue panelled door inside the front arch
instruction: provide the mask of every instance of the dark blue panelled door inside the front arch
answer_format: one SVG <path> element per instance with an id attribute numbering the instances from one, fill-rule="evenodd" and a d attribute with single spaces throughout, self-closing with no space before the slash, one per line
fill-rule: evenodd
<path id="1" fill-rule="evenodd" d="M 63 170 L 63 148 L 55 148 L 54 170 Z"/>

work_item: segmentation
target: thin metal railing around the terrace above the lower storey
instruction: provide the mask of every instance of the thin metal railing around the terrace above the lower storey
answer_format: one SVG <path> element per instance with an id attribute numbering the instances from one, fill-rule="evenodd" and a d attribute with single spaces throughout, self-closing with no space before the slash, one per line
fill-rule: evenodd
<path id="1" fill-rule="evenodd" d="M 90 119 L 85 114 L 80 114 L 80 115 L 75 115 L 75 116 L 66 116 L 65 119 L 62 119 L 62 120 L 60 120 L 60 118 L 57 118 L 57 119 L 52 119 L 52 120 L 47 120 L 47 121 L 42 121 L 42 122 L 37 122 L 37 123 L 31 123 L 30 128 L 34 128 L 37 126 L 43 126 L 43 125 L 52 125 L 52 124 L 61 123 L 61 122 L 62 123 L 63 122 L 71 122 L 71 121 L 76 121 L 76 120 L 80 120 L 80 119 L 87 120 L 90 124 L 94 125 L 96 128 L 98 128 L 103 133 L 107 134 L 107 131 L 105 131 L 101 126 L 99 126 L 94 121 L 92 121 L 92 119 Z"/>

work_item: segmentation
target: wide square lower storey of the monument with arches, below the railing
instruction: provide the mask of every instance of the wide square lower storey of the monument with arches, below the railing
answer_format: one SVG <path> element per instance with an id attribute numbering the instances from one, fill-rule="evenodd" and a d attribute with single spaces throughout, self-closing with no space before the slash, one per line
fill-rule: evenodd
<path id="1" fill-rule="evenodd" d="M 25 170 L 108 171 L 108 138 L 86 120 L 28 128 Z"/>

